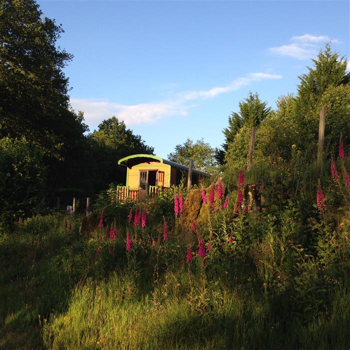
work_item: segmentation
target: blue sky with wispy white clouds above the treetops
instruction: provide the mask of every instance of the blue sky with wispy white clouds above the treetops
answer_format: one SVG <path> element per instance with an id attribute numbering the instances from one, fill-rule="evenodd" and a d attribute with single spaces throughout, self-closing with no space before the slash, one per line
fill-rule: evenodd
<path id="1" fill-rule="evenodd" d="M 90 131 L 116 116 L 166 158 L 224 142 L 249 91 L 275 108 L 326 42 L 349 56 L 350 1 L 38 0 L 73 54 L 70 103 Z"/>

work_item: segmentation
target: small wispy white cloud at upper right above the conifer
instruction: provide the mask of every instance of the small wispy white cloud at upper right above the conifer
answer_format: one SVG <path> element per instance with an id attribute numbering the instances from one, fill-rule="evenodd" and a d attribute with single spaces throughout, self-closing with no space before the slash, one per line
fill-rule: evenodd
<path id="1" fill-rule="evenodd" d="M 268 51 L 296 59 L 309 59 L 317 54 L 320 44 L 327 41 L 339 42 L 339 40 L 331 38 L 327 35 L 312 34 L 292 36 L 290 40 L 292 41 L 291 43 L 270 47 L 268 48 Z"/>

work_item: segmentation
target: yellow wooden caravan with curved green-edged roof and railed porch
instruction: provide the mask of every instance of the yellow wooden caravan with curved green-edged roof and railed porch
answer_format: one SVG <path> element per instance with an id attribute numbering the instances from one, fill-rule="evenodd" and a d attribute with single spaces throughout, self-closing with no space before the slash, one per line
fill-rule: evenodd
<path id="1" fill-rule="evenodd" d="M 178 185 L 188 176 L 188 166 L 150 154 L 129 155 L 119 159 L 118 164 L 126 166 L 126 185 L 119 186 L 119 200 L 142 200 Z M 192 169 L 191 183 L 197 184 L 201 177 L 207 176 L 210 175 L 206 172 Z"/>

